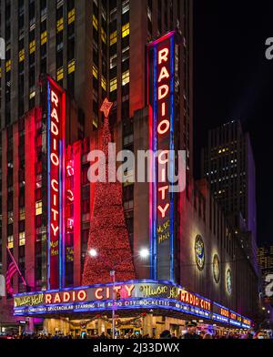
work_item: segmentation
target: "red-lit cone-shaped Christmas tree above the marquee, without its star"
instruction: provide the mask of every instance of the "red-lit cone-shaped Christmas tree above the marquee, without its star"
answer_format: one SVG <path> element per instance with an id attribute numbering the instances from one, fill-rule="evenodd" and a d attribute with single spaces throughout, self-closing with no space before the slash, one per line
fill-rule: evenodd
<path id="1" fill-rule="evenodd" d="M 106 117 L 102 136 L 102 150 L 106 155 L 106 183 L 96 183 L 94 211 L 88 238 L 88 250 L 96 250 L 97 256 L 90 257 L 86 254 L 83 285 L 111 281 L 110 270 L 116 270 L 116 281 L 136 279 L 126 229 L 122 186 L 119 182 L 107 182 L 109 142 L 111 142 L 111 133 Z"/>

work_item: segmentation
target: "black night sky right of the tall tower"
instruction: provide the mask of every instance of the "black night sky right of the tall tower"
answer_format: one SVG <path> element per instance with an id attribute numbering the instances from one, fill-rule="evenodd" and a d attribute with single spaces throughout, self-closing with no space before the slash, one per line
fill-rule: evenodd
<path id="1" fill-rule="evenodd" d="M 273 242 L 273 1 L 195 0 L 195 159 L 207 129 L 240 119 L 249 131 L 257 169 L 258 244 Z"/>

